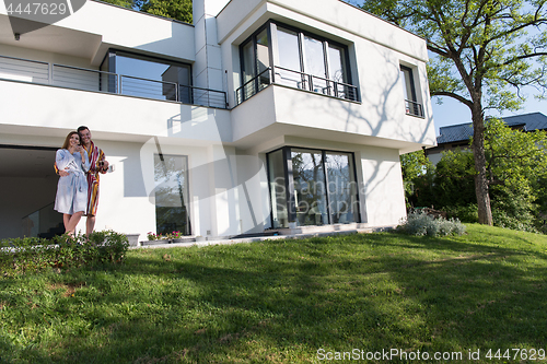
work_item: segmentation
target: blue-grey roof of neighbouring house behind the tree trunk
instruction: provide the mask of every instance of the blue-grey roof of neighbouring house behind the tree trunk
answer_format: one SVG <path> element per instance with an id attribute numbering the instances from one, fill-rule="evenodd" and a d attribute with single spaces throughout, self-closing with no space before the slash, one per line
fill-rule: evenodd
<path id="1" fill-rule="evenodd" d="M 509 127 L 523 126 L 525 131 L 547 130 L 547 116 L 542 113 L 531 113 L 516 116 L 508 116 L 502 120 Z M 440 128 L 441 134 L 437 137 L 438 144 L 453 143 L 469 140 L 473 137 L 473 124 L 459 124 Z"/>

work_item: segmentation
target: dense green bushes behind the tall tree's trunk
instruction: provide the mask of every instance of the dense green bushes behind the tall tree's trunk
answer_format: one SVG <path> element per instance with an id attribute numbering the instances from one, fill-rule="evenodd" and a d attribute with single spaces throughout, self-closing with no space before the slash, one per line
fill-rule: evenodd
<path id="1" fill-rule="evenodd" d="M 515 230 L 542 228 L 547 212 L 547 133 L 511 129 L 503 121 L 490 118 L 486 122 L 485 151 L 493 224 Z M 410 153 L 406 155 L 407 161 L 416 160 Z M 411 180 L 419 184 L 420 178 L 427 180 L 424 175 L 417 178 L 411 177 L 417 175 L 415 173 L 405 173 L 419 169 L 418 163 L 401 162 L 401 165 L 406 164 L 411 167 L 403 168 L 405 183 Z M 472 210 L 477 213 L 474 192 L 476 174 L 473 153 L 468 149 L 443 152 L 434 173 L 428 178 L 432 185 L 432 201 L 429 204 L 470 222 L 467 218 Z M 421 202 L 423 197 L 418 189 L 409 200 L 427 206 Z"/>

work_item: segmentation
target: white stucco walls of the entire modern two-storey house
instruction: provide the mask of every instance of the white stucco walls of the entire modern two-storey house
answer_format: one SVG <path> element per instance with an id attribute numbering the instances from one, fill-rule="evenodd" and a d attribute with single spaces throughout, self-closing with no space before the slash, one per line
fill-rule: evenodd
<path id="1" fill-rule="evenodd" d="M 19 43 L 0 4 L 0 55 L 96 69 L 114 47 L 195 61 L 194 81 L 229 90 L 233 106 L 238 45 L 274 19 L 347 45 L 362 102 L 270 86 L 223 110 L 0 81 L 0 143 L 56 146 L 69 130 L 90 127 L 114 165 L 102 176 L 96 228 L 139 233 L 141 239 L 155 232 L 158 145 L 164 154 L 188 156 L 194 235 L 228 236 L 269 226 L 266 153 L 282 145 L 354 153 L 362 221 L 370 226 L 398 223 L 406 214 L 399 152 L 435 141 L 423 39 L 341 1 L 323 0 L 319 7 L 313 0 L 233 0 L 223 8 L 226 2 L 203 5 L 197 19 L 202 23 L 194 27 L 88 1 L 77 14 Z M 405 115 L 400 63 L 416 70 L 423 119 Z M 84 221 L 79 228 L 85 230 Z"/>

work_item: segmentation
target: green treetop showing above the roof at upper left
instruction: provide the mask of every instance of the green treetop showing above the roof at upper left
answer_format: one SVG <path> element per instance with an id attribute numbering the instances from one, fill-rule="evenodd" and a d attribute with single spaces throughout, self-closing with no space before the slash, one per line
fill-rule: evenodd
<path id="1" fill-rule="evenodd" d="M 104 0 L 105 2 L 143 11 L 150 14 L 175 19 L 190 23 L 191 0 Z"/>

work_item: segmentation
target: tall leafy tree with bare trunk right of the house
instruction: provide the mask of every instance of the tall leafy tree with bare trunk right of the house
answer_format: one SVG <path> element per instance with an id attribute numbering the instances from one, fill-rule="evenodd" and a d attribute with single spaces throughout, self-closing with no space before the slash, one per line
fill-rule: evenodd
<path id="1" fill-rule="evenodd" d="M 519 109 L 526 85 L 545 95 L 546 1 L 365 0 L 362 5 L 426 38 L 435 55 L 428 66 L 431 95 L 455 98 L 470 109 L 475 195 L 482 224 L 492 224 L 485 111 Z"/>

